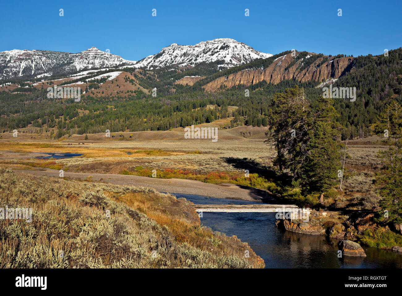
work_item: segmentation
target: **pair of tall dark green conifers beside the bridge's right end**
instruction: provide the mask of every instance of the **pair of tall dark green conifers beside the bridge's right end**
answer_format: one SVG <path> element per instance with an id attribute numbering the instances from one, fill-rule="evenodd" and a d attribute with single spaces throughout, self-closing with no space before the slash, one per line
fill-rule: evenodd
<path id="1" fill-rule="evenodd" d="M 276 94 L 273 106 L 266 141 L 277 151 L 273 165 L 289 172 L 305 195 L 322 195 L 340 169 L 341 126 L 332 99 L 318 99 L 313 112 L 304 90 L 295 86 Z"/>

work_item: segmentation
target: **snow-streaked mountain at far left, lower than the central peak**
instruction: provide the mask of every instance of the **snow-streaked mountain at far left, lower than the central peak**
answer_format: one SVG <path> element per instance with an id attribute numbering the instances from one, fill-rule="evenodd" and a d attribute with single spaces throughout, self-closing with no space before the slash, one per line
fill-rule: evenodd
<path id="1" fill-rule="evenodd" d="M 44 77 L 48 76 L 48 72 L 56 74 L 135 63 L 94 47 L 77 54 L 49 50 L 9 50 L 0 52 L 0 79 L 31 75 Z"/>

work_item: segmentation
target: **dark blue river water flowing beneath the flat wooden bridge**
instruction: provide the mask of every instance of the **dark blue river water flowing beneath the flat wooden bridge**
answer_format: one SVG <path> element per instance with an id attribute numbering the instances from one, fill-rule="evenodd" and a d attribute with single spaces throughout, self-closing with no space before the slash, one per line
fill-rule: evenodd
<path id="1" fill-rule="evenodd" d="M 252 204 L 173 193 L 195 204 Z M 236 235 L 265 261 L 266 268 L 402 268 L 402 254 L 363 246 L 367 257 L 338 258 L 338 240 L 276 228 L 275 213 L 203 212 L 201 223 L 212 230 Z"/>

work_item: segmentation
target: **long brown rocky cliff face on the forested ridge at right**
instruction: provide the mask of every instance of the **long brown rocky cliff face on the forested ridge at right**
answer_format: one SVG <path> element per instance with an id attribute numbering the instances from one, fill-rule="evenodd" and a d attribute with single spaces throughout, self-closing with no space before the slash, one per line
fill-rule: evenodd
<path id="1" fill-rule="evenodd" d="M 299 52 L 296 52 L 299 54 Z M 306 82 L 310 80 L 314 81 L 326 81 L 326 79 L 338 79 L 340 76 L 349 72 L 352 67 L 353 57 L 338 58 L 322 63 L 317 67 L 326 56 L 318 58 L 307 68 L 301 70 L 299 66 L 303 64 L 303 60 L 299 60 L 289 68 L 287 68 L 294 57 L 291 54 L 277 58 L 268 68 L 262 70 L 243 70 L 230 74 L 228 76 L 219 77 L 210 83 L 204 85 L 206 91 L 216 91 L 221 86 L 227 88 L 234 87 L 236 85 L 252 85 L 263 80 L 267 83 L 277 84 L 283 80 L 293 79 L 300 82 Z"/>

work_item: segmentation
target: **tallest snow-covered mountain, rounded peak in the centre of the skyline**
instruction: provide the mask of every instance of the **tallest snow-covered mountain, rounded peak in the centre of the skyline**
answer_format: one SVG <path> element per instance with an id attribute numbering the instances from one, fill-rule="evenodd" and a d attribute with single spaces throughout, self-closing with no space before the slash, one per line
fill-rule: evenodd
<path id="1" fill-rule="evenodd" d="M 173 43 L 162 48 L 158 54 L 148 56 L 135 64 L 135 67 L 161 68 L 172 64 L 180 66 L 215 62 L 224 60 L 222 67 L 230 68 L 248 63 L 258 58 L 269 58 L 272 54 L 265 54 L 254 50 L 242 42 L 230 38 L 219 38 L 203 41 L 196 45 L 178 45 Z"/>

